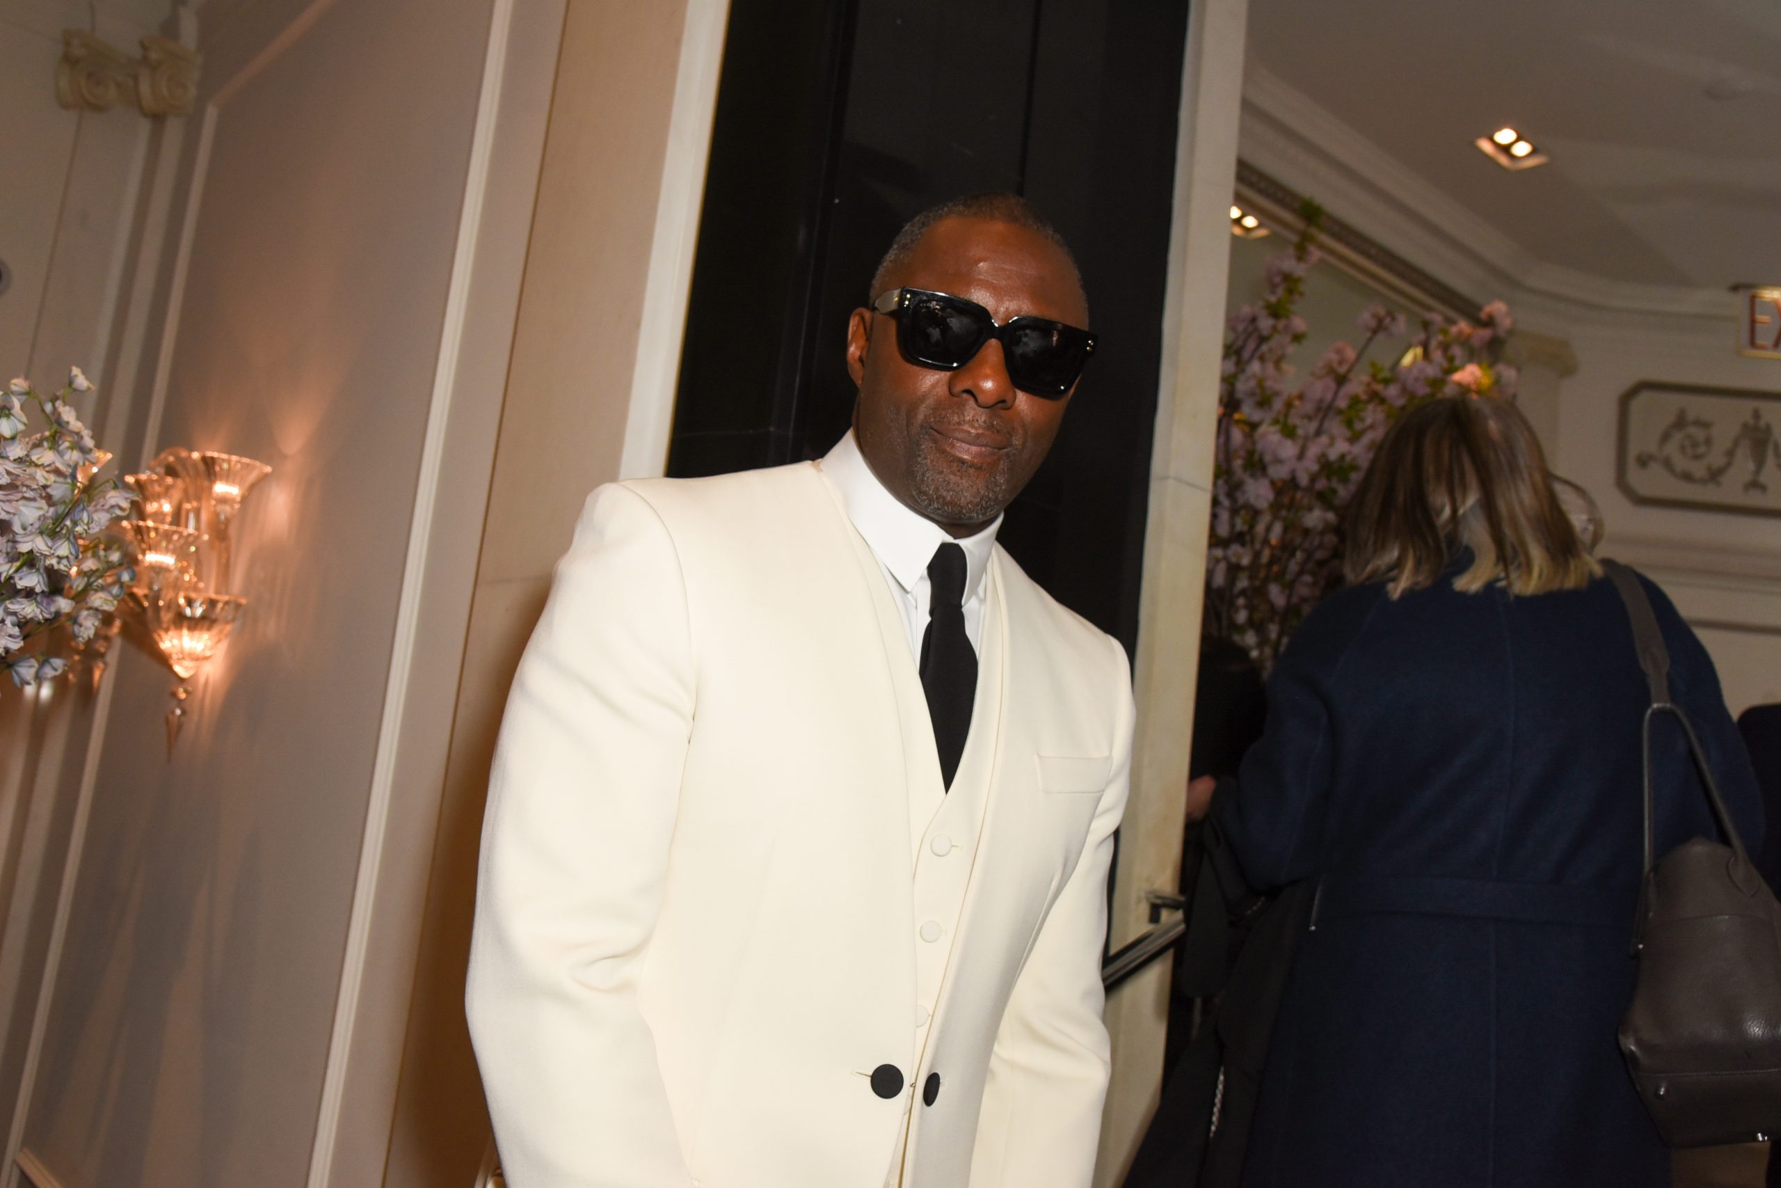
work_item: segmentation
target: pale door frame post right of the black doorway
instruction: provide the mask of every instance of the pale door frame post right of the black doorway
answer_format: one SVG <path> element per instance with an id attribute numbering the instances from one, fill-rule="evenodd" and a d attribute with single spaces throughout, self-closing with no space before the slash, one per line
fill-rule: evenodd
<path id="1" fill-rule="evenodd" d="M 1145 892 L 1174 889 L 1181 871 L 1247 23 L 1248 0 L 1193 0 L 1188 16 L 1133 664 L 1138 723 L 1108 924 L 1115 949 L 1149 926 Z M 1170 964 L 1158 960 L 1108 996 L 1113 1074 L 1095 1188 L 1124 1179 L 1161 1099 L 1168 981 Z"/>

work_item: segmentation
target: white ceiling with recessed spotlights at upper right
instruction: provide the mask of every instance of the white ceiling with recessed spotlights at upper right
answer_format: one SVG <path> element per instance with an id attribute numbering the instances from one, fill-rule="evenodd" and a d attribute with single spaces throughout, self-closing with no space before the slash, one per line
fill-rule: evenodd
<path id="1" fill-rule="evenodd" d="M 1781 0 L 1250 0 L 1248 14 L 1256 73 L 1532 260 L 1633 285 L 1781 283 Z M 1473 146 L 1505 125 L 1551 164 L 1510 173 Z"/>

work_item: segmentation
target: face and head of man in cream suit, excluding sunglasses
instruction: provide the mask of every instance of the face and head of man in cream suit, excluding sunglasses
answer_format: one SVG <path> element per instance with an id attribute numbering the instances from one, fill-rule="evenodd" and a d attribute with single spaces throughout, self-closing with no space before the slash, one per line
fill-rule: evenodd
<path id="1" fill-rule="evenodd" d="M 1029 313 L 1088 326 L 1088 303 L 1063 251 L 1008 223 L 935 223 L 882 287 L 965 297 L 997 324 Z M 864 308 L 848 322 L 848 374 L 860 387 L 853 410 L 860 452 L 905 506 L 953 536 L 971 536 L 1038 470 L 1069 394 L 1051 401 L 1019 392 L 999 342 L 985 342 L 958 370 L 910 363 L 898 351 L 896 330 L 896 319 Z"/>

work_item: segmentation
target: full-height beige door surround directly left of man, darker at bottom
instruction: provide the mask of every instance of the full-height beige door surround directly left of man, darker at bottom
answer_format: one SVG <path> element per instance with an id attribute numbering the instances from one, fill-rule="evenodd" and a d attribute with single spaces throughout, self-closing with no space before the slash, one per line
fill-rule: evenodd
<path id="1" fill-rule="evenodd" d="M 652 265 L 663 264 L 654 240 L 687 7 L 568 4 L 408 1021 L 390 1188 L 470 1183 L 488 1145 L 463 1021 L 488 764 L 550 570 L 588 492 L 618 477 L 645 294 Z M 709 21 L 721 5 L 691 7 Z M 711 82 L 695 85 L 714 93 Z M 703 153 L 705 141 L 680 151 Z"/>

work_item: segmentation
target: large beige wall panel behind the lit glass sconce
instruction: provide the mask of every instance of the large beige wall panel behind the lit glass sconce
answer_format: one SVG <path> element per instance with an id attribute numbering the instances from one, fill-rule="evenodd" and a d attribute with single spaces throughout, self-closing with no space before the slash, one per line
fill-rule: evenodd
<path id="1" fill-rule="evenodd" d="M 25 1136 L 64 1188 L 306 1177 L 488 18 L 262 4 L 207 45 L 151 443 L 274 477 L 171 761 L 171 677 L 134 650 L 114 673 Z"/>

